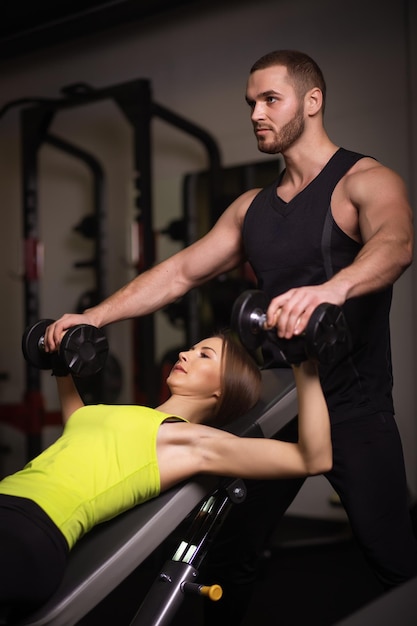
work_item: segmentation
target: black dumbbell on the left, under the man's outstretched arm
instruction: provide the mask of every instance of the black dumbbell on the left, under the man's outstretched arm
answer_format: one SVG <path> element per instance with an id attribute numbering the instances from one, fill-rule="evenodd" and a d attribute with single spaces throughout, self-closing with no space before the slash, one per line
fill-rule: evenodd
<path id="1" fill-rule="evenodd" d="M 45 331 L 54 320 L 43 319 L 23 333 L 23 355 L 41 370 L 59 369 L 79 378 L 97 374 L 104 366 L 109 351 L 103 332 L 89 324 L 73 326 L 65 332 L 58 352 L 45 352 Z"/>

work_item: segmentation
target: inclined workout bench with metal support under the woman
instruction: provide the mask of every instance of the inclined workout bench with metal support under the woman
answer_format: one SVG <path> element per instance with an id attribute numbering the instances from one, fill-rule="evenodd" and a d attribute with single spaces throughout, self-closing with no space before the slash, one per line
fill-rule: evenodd
<path id="1" fill-rule="evenodd" d="M 264 370 L 261 400 L 228 430 L 241 436 L 270 438 L 296 415 L 297 398 L 292 371 Z M 233 505 L 233 494 L 237 494 L 235 502 L 244 495 L 243 483 L 237 488 L 236 481 L 231 480 L 230 484 L 231 498 L 228 497 L 230 492 L 224 496 L 219 491 L 218 478 L 199 476 L 94 528 L 72 550 L 64 580 L 56 593 L 39 610 L 19 621 L 18 626 L 77 624 L 143 563 L 199 503 L 202 502 L 202 505 L 191 527 L 201 518 L 203 510 L 213 508 L 216 498 L 220 502 L 216 516 L 227 514 L 228 506 L 223 505 Z M 209 525 L 215 523 L 215 520 L 209 520 Z M 162 626 L 170 623 L 187 585 L 190 588 L 199 587 L 192 582 L 196 580 L 198 572 L 191 561 L 179 557 L 165 564 L 165 569 L 131 622 L 132 626 Z"/>

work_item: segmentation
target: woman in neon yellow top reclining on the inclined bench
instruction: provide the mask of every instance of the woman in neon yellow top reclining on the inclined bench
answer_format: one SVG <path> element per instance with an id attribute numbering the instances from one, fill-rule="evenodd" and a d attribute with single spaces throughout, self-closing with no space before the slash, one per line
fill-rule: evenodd
<path id="1" fill-rule="evenodd" d="M 57 377 L 62 436 L 0 482 L 0 606 L 29 611 L 58 586 L 69 551 L 96 524 L 197 473 L 240 478 L 316 474 L 331 466 L 315 365 L 294 367 L 298 444 L 240 438 L 222 426 L 257 402 L 260 372 L 229 335 L 181 352 L 157 409 L 84 406 Z"/>

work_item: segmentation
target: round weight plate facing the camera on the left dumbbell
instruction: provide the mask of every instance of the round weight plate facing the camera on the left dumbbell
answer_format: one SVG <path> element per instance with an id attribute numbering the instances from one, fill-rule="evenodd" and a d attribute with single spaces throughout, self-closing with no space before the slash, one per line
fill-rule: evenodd
<path id="1" fill-rule="evenodd" d="M 74 376 L 97 374 L 107 358 L 109 346 L 103 332 L 95 326 L 80 324 L 70 328 L 59 348 L 60 357 Z"/>

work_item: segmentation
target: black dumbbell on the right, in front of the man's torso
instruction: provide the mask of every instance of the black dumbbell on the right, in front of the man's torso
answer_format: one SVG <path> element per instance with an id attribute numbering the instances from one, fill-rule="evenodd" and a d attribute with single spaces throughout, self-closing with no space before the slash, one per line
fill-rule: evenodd
<path id="1" fill-rule="evenodd" d="M 248 350 L 256 350 L 265 334 L 278 344 L 288 363 L 297 364 L 308 358 L 329 365 L 350 350 L 350 334 L 340 307 L 322 303 L 311 314 L 301 335 L 284 339 L 276 329 L 265 329 L 269 300 L 263 291 L 244 291 L 232 309 L 232 328 Z"/>

